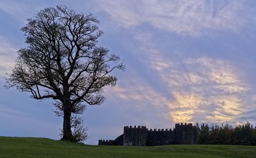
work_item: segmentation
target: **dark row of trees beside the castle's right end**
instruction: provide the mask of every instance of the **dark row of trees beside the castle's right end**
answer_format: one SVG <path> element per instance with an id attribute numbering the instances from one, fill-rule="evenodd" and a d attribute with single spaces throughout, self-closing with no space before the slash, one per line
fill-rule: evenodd
<path id="1" fill-rule="evenodd" d="M 256 145 L 256 127 L 247 122 L 243 125 L 196 124 L 198 144 Z"/>

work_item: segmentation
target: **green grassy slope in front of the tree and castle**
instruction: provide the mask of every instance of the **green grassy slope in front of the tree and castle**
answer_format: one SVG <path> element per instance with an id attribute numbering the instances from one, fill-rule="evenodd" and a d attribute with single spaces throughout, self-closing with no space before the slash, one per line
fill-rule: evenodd
<path id="1" fill-rule="evenodd" d="M 0 157 L 256 157 L 256 146 L 93 146 L 46 138 L 0 137 Z"/>

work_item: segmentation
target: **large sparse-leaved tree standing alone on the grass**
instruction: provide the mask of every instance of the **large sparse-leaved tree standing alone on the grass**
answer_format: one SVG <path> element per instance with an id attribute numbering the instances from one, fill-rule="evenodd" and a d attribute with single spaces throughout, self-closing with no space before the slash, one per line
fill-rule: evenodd
<path id="1" fill-rule="evenodd" d="M 125 69 L 118 55 L 97 46 L 103 34 L 95 25 L 98 22 L 91 13 L 77 14 L 65 6 L 40 10 L 21 29 L 28 47 L 18 51 L 6 79 L 7 88 L 30 92 L 37 100 L 55 100 L 56 114 L 63 117 L 65 140 L 76 141 L 72 115 L 81 114 L 87 104 L 101 104 L 103 87 L 117 82 L 110 73 Z"/>

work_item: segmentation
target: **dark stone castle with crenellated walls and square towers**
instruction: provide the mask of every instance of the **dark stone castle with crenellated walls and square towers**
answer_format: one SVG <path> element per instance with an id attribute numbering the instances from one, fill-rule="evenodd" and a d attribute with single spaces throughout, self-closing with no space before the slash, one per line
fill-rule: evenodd
<path id="1" fill-rule="evenodd" d="M 124 126 L 121 136 L 115 140 L 99 140 L 98 145 L 157 146 L 171 144 L 197 144 L 197 128 L 191 123 L 177 123 L 173 130 L 148 130 L 145 126 Z"/>

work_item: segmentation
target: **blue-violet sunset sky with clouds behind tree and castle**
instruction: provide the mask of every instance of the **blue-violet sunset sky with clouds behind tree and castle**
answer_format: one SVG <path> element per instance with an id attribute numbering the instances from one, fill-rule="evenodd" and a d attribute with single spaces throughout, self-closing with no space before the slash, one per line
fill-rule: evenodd
<path id="1" fill-rule="evenodd" d="M 175 123 L 256 125 L 256 2 L 253 0 L 0 0 L 0 136 L 58 140 L 62 119 L 52 100 L 4 87 L 20 28 L 47 7 L 66 5 L 100 20 L 99 45 L 124 59 L 107 100 L 82 117 L 90 138 L 114 140 L 123 126 L 173 128 Z"/>

